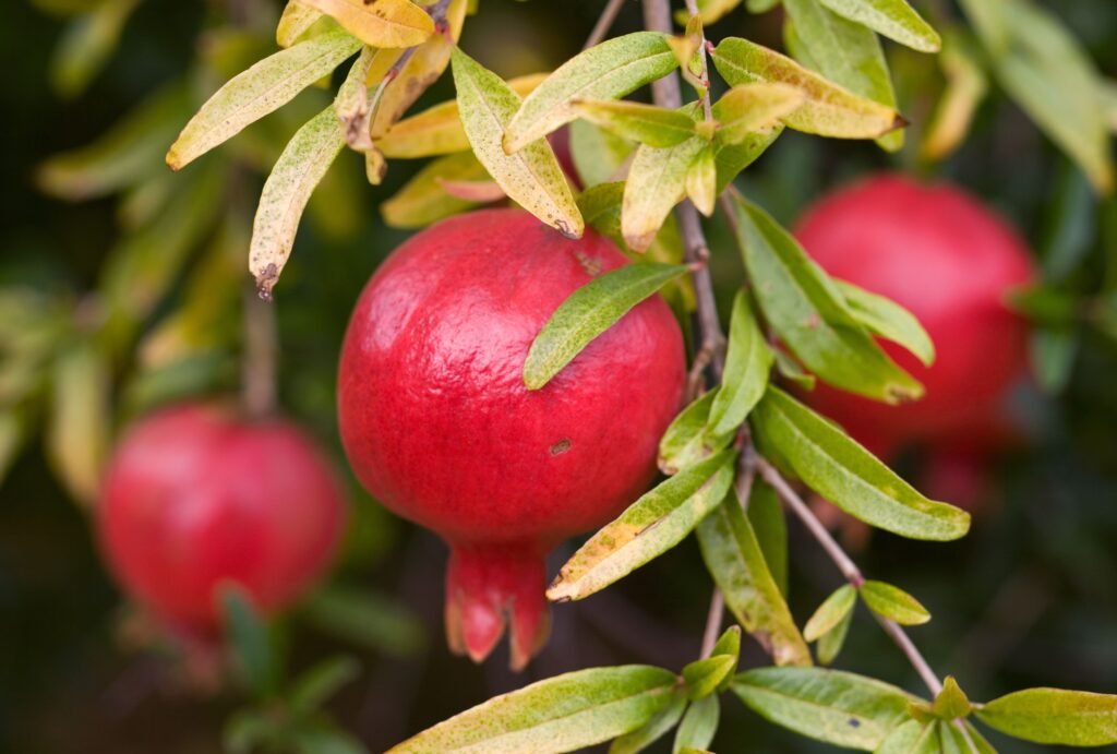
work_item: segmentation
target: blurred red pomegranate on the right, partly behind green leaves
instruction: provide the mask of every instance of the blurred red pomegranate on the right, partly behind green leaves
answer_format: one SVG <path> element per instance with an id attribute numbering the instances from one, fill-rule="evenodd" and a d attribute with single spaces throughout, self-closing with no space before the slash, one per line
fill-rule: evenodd
<path id="1" fill-rule="evenodd" d="M 1027 368 L 1027 323 L 1006 294 L 1034 278 L 1016 232 L 955 187 L 878 175 L 817 203 L 795 231 L 831 275 L 904 305 L 935 343 L 928 369 L 885 350 L 923 382 L 920 401 L 889 407 L 820 385 L 811 403 L 882 456 L 908 443 L 967 454 L 1011 436 L 1004 398 Z"/>

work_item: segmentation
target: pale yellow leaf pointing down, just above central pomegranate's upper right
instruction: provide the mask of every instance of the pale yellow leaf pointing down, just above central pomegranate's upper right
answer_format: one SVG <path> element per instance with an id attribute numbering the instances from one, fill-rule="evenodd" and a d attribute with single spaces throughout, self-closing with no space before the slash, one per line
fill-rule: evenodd
<path id="1" fill-rule="evenodd" d="M 621 230 L 634 251 L 651 246 L 671 209 L 686 195 L 687 172 L 706 140 L 694 136 L 663 150 L 642 144 L 624 183 Z M 648 187 L 656 187 L 649 191 Z"/>

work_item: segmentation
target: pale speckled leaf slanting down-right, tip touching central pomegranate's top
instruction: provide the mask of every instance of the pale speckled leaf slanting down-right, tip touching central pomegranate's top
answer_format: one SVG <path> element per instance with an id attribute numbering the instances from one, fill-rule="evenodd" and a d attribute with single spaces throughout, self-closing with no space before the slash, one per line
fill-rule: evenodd
<path id="1" fill-rule="evenodd" d="M 477 159 L 510 199 L 564 236 L 581 238 L 582 216 L 546 140 L 527 144 L 516 154 L 506 154 L 500 145 L 508 121 L 519 108 L 519 95 L 460 49 L 455 48 L 452 59 L 461 124 Z"/>

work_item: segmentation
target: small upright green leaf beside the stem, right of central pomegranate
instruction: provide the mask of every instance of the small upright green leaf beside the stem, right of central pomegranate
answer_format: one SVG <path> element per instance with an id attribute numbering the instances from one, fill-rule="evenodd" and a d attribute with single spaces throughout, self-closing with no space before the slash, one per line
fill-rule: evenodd
<path id="1" fill-rule="evenodd" d="M 764 395 L 772 360 L 772 350 L 756 324 L 748 297 L 738 290 L 729 318 L 725 375 L 709 410 L 713 435 L 733 432 L 744 423 L 748 412 Z"/>

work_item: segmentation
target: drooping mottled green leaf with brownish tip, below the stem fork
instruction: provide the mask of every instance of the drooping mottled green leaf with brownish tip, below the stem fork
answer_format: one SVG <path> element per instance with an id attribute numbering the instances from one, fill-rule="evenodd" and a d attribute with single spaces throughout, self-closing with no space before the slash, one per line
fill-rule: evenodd
<path id="1" fill-rule="evenodd" d="M 745 631 L 776 665 L 810 665 L 810 650 L 735 495 L 698 525 L 698 544 L 706 569 Z"/>

